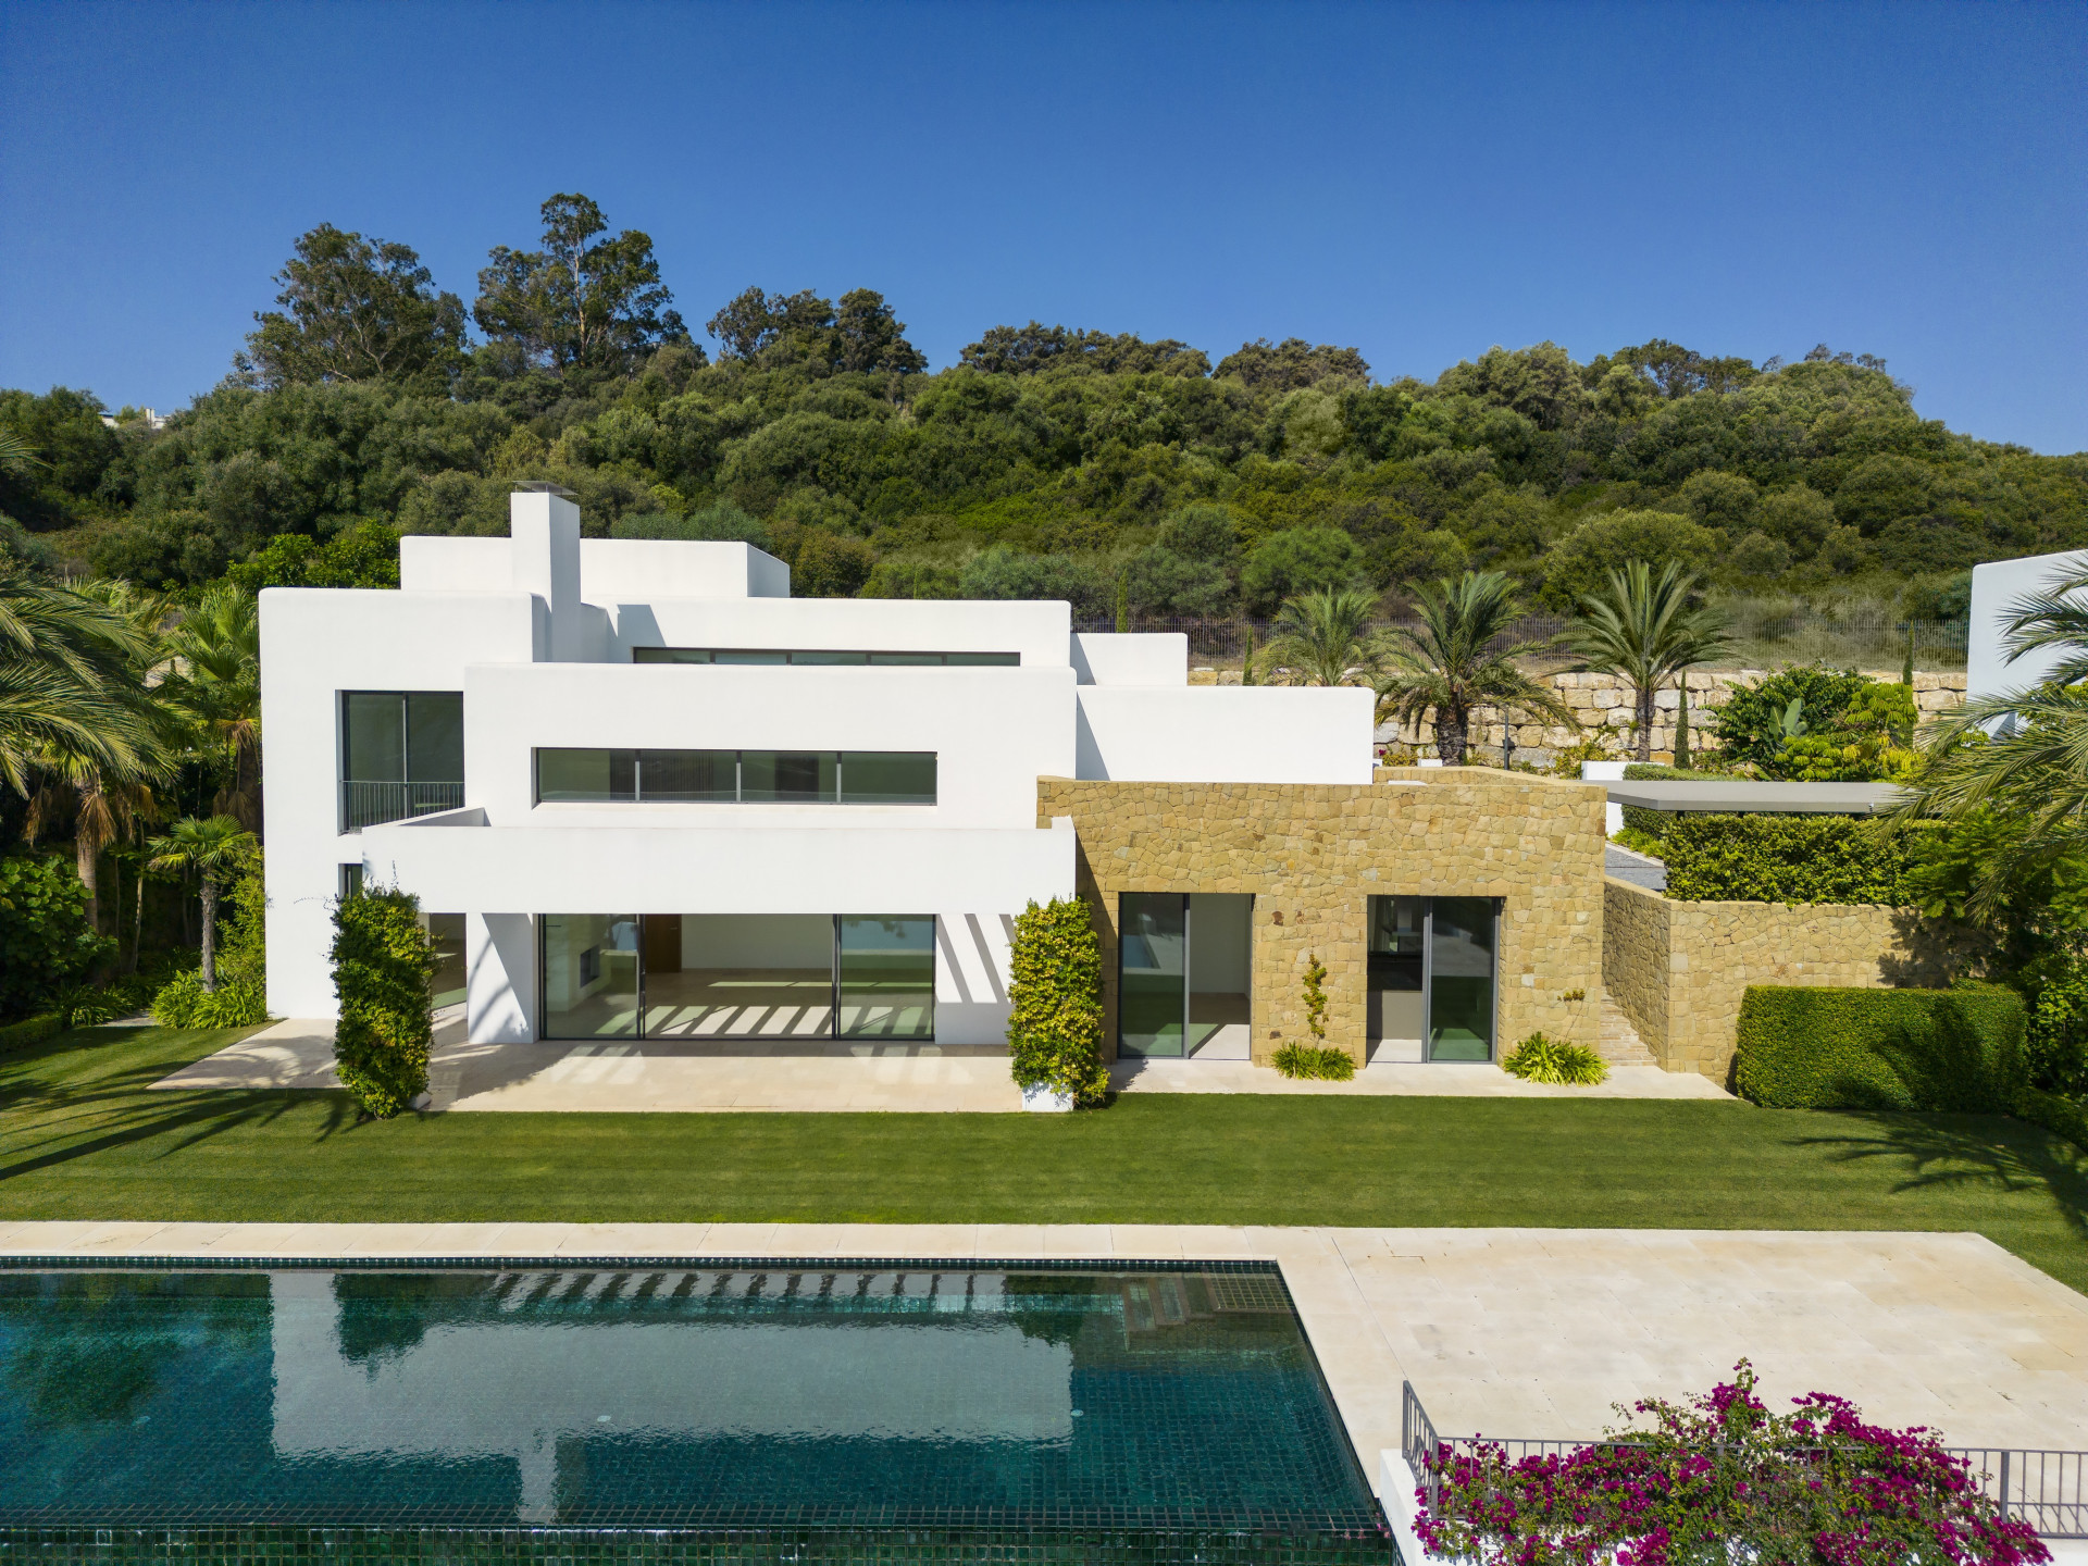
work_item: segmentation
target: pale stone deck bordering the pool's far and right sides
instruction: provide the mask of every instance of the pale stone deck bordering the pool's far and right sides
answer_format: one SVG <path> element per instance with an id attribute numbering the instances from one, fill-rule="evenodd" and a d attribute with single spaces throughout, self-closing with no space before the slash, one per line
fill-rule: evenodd
<path id="1" fill-rule="evenodd" d="M 996 1224 L 4 1224 L 0 1257 L 1267 1259 L 1363 1470 L 1411 1380 L 1443 1434 L 1593 1437 L 1746 1355 L 1952 1445 L 2080 1447 L 2088 1299 L 1977 1234 Z M 1401 1470 L 1403 1472 L 1403 1470 Z"/>

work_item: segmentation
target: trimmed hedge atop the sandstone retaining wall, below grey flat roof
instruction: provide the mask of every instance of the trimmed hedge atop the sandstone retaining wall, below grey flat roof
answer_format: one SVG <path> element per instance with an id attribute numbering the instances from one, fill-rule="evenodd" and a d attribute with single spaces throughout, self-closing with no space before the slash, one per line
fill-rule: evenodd
<path id="1" fill-rule="evenodd" d="M 1660 839 L 1668 896 L 1681 902 L 1875 902 L 1904 908 L 1923 829 L 1873 835 L 1856 816 L 1710 814 L 1624 806 L 1624 825 Z"/>

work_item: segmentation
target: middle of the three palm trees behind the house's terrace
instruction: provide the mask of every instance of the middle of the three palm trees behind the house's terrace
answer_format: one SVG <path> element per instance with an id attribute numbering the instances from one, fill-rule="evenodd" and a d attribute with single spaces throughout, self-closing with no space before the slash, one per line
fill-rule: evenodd
<path id="1" fill-rule="evenodd" d="M 1549 641 L 1493 643 L 1522 616 L 1514 583 L 1497 570 L 1468 570 L 1418 587 L 1418 626 L 1395 626 L 1382 649 L 1393 668 L 1376 681 L 1378 720 L 1416 722 L 1434 714 L 1437 756 L 1464 764 L 1472 708 L 1543 714 L 1579 727 L 1572 710 L 1545 685 L 1516 666 L 1516 658 L 1545 651 Z"/>

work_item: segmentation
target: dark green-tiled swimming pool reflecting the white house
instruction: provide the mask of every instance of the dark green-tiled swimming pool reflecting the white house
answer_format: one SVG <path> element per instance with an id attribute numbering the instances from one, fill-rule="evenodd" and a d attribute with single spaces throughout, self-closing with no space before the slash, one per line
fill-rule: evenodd
<path id="1" fill-rule="evenodd" d="M 1263 1265 L 10 1270 L 0 1393 L 0 1545 L 1393 1553 Z"/>

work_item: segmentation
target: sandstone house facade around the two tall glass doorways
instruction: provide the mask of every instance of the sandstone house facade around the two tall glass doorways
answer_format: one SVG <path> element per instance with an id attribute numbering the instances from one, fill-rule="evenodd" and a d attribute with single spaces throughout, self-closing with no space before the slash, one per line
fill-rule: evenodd
<path id="1" fill-rule="evenodd" d="M 1328 1044 L 1366 1054 L 1370 896 L 1501 898 L 1499 1046 L 1599 1034 L 1604 793 L 1485 766 L 1378 768 L 1372 785 L 1038 781 L 1038 825 L 1071 816 L 1102 935 L 1109 1050 L 1125 892 L 1251 892 L 1253 1059 L 1307 1042 L 1309 954 Z M 1583 992 L 1568 1000 L 1570 992 Z"/>

